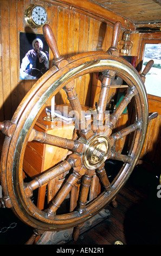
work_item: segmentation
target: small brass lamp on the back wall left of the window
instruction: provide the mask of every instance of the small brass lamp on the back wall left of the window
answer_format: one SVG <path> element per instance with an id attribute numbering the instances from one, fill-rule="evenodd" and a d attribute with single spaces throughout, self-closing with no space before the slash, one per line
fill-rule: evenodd
<path id="1" fill-rule="evenodd" d="M 133 42 L 130 40 L 130 31 L 124 31 L 123 38 L 118 42 L 120 53 L 127 55 L 132 46 Z"/>

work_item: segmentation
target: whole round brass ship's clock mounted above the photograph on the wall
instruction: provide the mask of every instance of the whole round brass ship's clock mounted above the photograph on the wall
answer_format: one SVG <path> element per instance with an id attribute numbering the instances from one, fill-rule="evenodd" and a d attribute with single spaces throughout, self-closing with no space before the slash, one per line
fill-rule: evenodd
<path id="1" fill-rule="evenodd" d="M 31 4 L 25 10 L 25 21 L 31 28 L 40 28 L 47 23 L 48 15 L 46 9 L 41 5 Z"/>

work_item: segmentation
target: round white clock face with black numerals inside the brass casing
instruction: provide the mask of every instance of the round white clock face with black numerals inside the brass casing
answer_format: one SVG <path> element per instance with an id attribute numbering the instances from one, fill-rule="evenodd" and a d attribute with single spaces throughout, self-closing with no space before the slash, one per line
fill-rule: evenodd
<path id="1" fill-rule="evenodd" d="M 33 21 L 38 26 L 44 25 L 47 21 L 47 12 L 41 6 L 34 7 L 31 16 L 32 16 Z"/>

